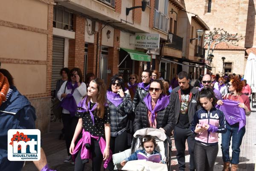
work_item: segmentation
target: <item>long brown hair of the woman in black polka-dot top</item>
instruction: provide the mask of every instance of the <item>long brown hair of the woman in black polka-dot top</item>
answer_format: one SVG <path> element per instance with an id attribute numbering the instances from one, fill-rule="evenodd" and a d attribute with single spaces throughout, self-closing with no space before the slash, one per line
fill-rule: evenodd
<path id="1" fill-rule="evenodd" d="M 102 119 L 104 117 L 104 113 L 105 113 L 106 85 L 105 85 L 104 81 L 100 78 L 96 78 L 92 81 L 97 84 L 97 89 L 98 89 L 98 95 L 97 95 L 98 106 L 97 106 L 97 110 L 96 110 L 96 115 Z M 88 98 L 86 99 L 86 104 L 88 104 L 91 99 L 90 96 L 87 96 L 87 97 Z"/>

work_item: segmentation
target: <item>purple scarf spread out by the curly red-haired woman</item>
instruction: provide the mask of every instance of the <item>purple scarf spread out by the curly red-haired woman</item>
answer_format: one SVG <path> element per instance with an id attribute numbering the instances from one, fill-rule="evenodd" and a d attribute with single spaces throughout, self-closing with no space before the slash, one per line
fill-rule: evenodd
<path id="1" fill-rule="evenodd" d="M 239 130 L 246 125 L 246 117 L 245 117 L 245 110 L 238 106 L 240 103 L 239 101 L 233 101 L 233 100 L 222 100 L 223 104 L 216 105 L 216 108 L 219 110 L 222 110 L 222 112 L 225 115 L 226 121 L 233 125 L 237 122 L 239 122 Z"/>

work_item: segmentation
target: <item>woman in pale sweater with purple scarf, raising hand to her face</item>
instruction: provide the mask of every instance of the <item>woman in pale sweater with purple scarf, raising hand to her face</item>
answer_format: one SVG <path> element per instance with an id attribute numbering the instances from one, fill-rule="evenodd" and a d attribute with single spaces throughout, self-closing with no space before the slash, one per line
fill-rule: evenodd
<path id="1" fill-rule="evenodd" d="M 68 80 L 61 85 L 57 93 L 57 97 L 61 101 L 61 107 L 63 108 L 61 119 L 64 126 L 68 154 L 64 162 L 71 161 L 69 148 L 78 122 L 75 112 L 77 110 L 77 104 L 86 95 L 86 84 L 82 82 L 82 78 L 81 70 L 79 68 L 73 68 L 68 75 Z"/>

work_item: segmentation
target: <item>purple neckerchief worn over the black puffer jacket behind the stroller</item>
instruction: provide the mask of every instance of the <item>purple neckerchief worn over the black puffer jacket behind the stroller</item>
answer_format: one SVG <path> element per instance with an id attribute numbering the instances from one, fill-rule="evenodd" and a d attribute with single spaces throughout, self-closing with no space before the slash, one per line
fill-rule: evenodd
<path id="1" fill-rule="evenodd" d="M 166 106 L 170 102 L 170 99 L 166 95 L 160 95 L 153 110 L 152 110 L 152 105 L 151 105 L 150 93 L 148 93 L 147 96 L 145 96 L 143 101 L 145 102 L 146 106 L 148 107 L 148 110 L 151 112 L 151 121 L 154 125 L 154 119 L 156 118 L 155 113 L 158 112 L 159 110 L 166 108 Z"/>

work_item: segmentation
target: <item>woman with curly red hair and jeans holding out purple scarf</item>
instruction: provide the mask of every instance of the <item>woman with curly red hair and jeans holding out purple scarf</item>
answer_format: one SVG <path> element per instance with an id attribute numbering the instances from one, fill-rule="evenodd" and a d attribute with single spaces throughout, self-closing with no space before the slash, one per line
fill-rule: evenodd
<path id="1" fill-rule="evenodd" d="M 221 136 L 222 159 L 224 162 L 223 171 L 237 171 L 239 164 L 240 145 L 245 133 L 246 118 L 250 115 L 250 101 L 248 96 L 241 93 L 243 84 L 238 77 L 230 80 L 230 87 L 224 100 L 218 100 L 219 109 L 223 111 L 227 120 L 227 132 Z M 232 137 L 232 160 L 230 160 L 230 140 Z"/>

